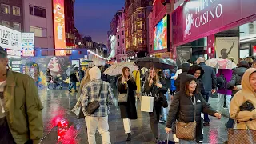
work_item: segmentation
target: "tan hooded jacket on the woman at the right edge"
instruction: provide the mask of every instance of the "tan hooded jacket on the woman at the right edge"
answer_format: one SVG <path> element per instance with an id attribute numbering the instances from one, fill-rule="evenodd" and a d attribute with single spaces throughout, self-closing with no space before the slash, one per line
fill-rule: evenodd
<path id="1" fill-rule="evenodd" d="M 256 69 L 250 68 L 246 70 L 242 77 L 242 90 L 238 91 L 230 102 L 230 117 L 235 119 L 238 113 L 236 129 L 246 129 L 246 124 L 251 130 L 256 130 L 256 109 L 253 111 L 239 111 L 240 106 L 249 101 L 256 107 L 256 93 L 250 86 L 250 74 L 256 72 Z"/>

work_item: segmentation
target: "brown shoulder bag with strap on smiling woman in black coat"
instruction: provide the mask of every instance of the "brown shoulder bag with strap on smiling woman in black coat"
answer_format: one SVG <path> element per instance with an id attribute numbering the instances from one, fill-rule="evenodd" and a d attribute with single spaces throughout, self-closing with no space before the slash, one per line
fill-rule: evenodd
<path id="1" fill-rule="evenodd" d="M 197 122 L 195 121 L 195 113 L 196 113 L 196 101 L 195 101 L 195 96 L 194 96 L 194 121 L 189 122 L 189 123 L 177 121 L 176 122 L 177 138 L 184 139 L 184 140 L 190 140 L 190 141 L 192 141 L 196 138 Z"/>

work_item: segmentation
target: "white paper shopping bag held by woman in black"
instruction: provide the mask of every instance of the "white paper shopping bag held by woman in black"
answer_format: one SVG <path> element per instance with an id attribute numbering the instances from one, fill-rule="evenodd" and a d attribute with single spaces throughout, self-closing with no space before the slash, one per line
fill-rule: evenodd
<path id="1" fill-rule="evenodd" d="M 154 97 L 142 96 L 141 111 L 153 112 Z"/>

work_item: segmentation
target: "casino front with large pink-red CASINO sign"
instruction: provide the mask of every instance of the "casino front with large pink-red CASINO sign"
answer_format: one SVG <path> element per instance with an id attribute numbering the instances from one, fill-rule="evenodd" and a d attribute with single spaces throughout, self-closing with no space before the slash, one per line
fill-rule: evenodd
<path id="1" fill-rule="evenodd" d="M 250 56 L 253 46 L 246 43 L 256 38 L 250 35 L 246 41 L 242 26 L 256 20 L 254 6 L 256 1 L 242 0 L 190 0 L 179 6 L 172 14 L 177 61 Z"/>

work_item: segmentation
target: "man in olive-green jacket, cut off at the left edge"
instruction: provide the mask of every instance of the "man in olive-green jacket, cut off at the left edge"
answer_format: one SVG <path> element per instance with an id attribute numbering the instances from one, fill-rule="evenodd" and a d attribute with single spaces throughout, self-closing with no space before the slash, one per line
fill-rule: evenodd
<path id="1" fill-rule="evenodd" d="M 8 68 L 0 47 L 0 143 L 38 144 L 43 135 L 42 103 L 34 79 Z"/>

